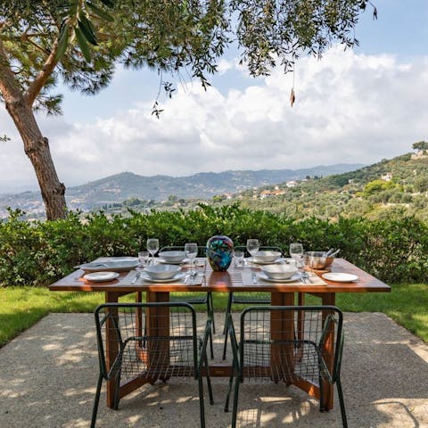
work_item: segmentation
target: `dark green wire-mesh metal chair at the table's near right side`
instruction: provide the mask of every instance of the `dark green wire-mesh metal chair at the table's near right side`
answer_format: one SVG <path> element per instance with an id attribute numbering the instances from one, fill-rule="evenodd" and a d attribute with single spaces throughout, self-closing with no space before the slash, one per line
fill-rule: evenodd
<path id="1" fill-rule="evenodd" d="M 303 323 L 297 320 L 303 319 Z M 348 427 L 341 384 L 342 311 L 334 306 L 260 306 L 243 310 L 239 341 L 232 315 L 227 329 L 233 351 L 225 412 L 235 378 L 232 427 L 236 426 L 238 394 L 244 378 L 276 383 L 309 383 L 319 388 L 319 410 L 325 410 L 325 386 L 336 384 L 342 424 Z M 297 332 L 295 331 L 297 329 Z"/>

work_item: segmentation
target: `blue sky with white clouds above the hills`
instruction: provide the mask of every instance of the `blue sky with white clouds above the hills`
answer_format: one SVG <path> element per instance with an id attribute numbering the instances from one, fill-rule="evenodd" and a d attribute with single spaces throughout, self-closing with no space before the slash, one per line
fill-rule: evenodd
<path id="1" fill-rule="evenodd" d="M 66 187 L 118 174 L 187 176 L 228 169 L 300 169 L 371 164 L 428 140 L 428 1 L 374 0 L 356 27 L 359 46 L 332 46 L 321 60 L 301 57 L 251 78 L 231 51 L 204 91 L 185 73 L 171 99 L 159 76 L 118 69 L 98 95 L 64 95 L 63 115 L 37 115 Z M 12 119 L 0 106 L 0 192 L 37 189 Z"/>

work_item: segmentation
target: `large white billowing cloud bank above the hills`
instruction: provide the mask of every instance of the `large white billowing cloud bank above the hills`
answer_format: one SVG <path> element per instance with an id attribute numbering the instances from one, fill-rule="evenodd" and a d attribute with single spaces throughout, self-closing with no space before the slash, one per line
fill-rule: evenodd
<path id="1" fill-rule="evenodd" d="M 278 69 L 261 85 L 225 95 L 213 87 L 205 92 L 196 83 L 178 87 L 161 104 L 161 119 L 151 115 L 152 100 L 136 103 L 130 92 L 123 96 L 133 109 L 109 118 L 72 125 L 67 117 L 39 121 L 66 185 L 125 170 L 182 176 L 370 163 L 408 152 L 415 141 L 428 139 L 427 65 L 427 58 L 399 63 L 391 55 L 334 48 L 321 61 L 302 58 L 297 63 L 293 107 L 292 75 Z M 231 62 L 221 68 L 239 77 L 241 69 Z M 0 113 L 2 123 L 4 115 Z M 16 135 L 11 123 L 5 132 Z M 34 177 L 28 161 L 24 166 L 21 147 L 21 154 L 0 151 L 6 177 Z"/>

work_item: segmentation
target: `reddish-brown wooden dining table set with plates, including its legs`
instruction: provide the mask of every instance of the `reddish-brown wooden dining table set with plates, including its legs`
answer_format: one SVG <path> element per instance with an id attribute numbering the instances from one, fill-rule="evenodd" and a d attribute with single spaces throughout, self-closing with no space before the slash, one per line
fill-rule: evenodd
<path id="1" fill-rule="evenodd" d="M 96 261 L 103 261 L 103 258 Z M 264 281 L 254 284 L 248 279 L 248 275 L 243 275 L 245 268 L 231 266 L 226 272 L 216 272 L 212 271 L 208 263 L 205 266 L 202 284 L 198 285 L 174 282 L 150 283 L 145 281 L 131 284 L 131 281 L 127 279 L 129 278 L 128 272 L 120 273 L 119 277 L 111 282 L 92 283 L 86 281 L 83 278 L 85 272 L 78 269 L 51 284 L 49 289 L 53 292 L 104 292 L 105 302 L 112 303 L 118 302 L 120 297 L 129 293 L 136 293 L 136 300 L 141 300 L 142 292 L 145 292 L 145 298 L 148 302 L 169 301 L 169 292 L 269 292 L 271 295 L 271 304 L 275 306 L 293 306 L 296 294 L 299 295 L 299 304 L 304 303 L 303 296 L 309 293 L 320 298 L 322 305 L 335 305 L 336 294 L 338 292 L 391 292 L 389 285 L 384 284 L 379 279 L 371 276 L 345 259 L 334 259 L 331 272 L 353 274 L 358 277 L 354 282 L 335 283 L 324 279 L 325 284 L 304 284 L 302 282 L 283 284 Z M 256 268 L 253 267 L 252 269 Z M 150 312 L 146 314 L 146 317 L 148 317 L 146 320 L 147 325 L 150 325 L 150 315 Z M 272 324 L 271 328 L 272 334 L 275 334 L 275 324 Z M 107 364 L 109 364 L 109 361 L 114 360 L 117 350 L 109 350 L 109 352 L 111 355 L 107 356 Z M 232 365 L 227 362 L 210 364 L 209 370 L 210 376 L 229 377 Z M 131 391 L 135 391 L 143 383 L 144 381 L 141 378 L 136 378 L 120 385 L 119 396 L 126 396 Z M 295 384 L 301 390 L 307 391 L 309 395 L 317 399 L 320 398 L 317 385 L 306 382 Z M 107 382 L 108 407 L 113 407 L 114 389 L 114 382 Z M 328 410 L 333 408 L 333 385 L 325 384 L 324 391 L 324 405 L 325 409 Z"/>

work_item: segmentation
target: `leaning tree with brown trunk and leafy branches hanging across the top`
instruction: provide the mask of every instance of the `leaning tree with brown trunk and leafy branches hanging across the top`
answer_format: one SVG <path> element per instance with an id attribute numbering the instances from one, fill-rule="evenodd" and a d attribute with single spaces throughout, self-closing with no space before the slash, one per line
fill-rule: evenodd
<path id="1" fill-rule="evenodd" d="M 206 73 L 234 38 L 252 76 L 300 54 L 321 56 L 333 41 L 358 44 L 353 29 L 369 0 L 11 0 L 0 3 L 0 95 L 20 132 L 45 202 L 46 218 L 66 216 L 65 186 L 34 111 L 61 112 L 58 80 L 95 94 L 118 63 L 136 69 Z M 377 11 L 374 8 L 374 17 Z M 114 17 L 114 19 L 113 19 Z M 232 19 L 233 18 L 233 19 Z M 236 23 L 236 27 L 235 26 Z M 174 90 L 164 84 L 167 94 Z M 292 102 L 294 94 L 292 93 Z M 154 104 L 153 113 L 161 109 Z"/>

